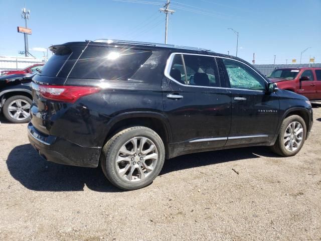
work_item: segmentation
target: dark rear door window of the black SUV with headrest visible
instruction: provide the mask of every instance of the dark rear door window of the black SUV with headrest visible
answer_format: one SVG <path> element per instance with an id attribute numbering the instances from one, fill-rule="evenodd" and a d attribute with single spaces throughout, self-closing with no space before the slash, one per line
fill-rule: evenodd
<path id="1" fill-rule="evenodd" d="M 183 55 L 190 85 L 219 87 L 215 59 L 199 55 Z"/>

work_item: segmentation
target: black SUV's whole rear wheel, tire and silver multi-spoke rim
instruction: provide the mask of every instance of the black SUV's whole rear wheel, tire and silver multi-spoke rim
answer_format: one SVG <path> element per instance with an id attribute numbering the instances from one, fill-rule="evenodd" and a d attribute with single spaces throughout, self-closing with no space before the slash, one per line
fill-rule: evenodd
<path id="1" fill-rule="evenodd" d="M 100 164 L 113 185 L 135 190 L 152 183 L 164 160 L 164 144 L 157 133 L 146 127 L 131 127 L 109 139 L 103 147 Z"/>

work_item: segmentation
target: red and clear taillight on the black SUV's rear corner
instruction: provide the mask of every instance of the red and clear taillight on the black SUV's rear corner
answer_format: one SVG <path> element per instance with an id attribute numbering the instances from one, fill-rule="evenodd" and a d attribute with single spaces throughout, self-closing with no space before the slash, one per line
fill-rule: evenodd
<path id="1" fill-rule="evenodd" d="M 74 103 L 82 96 L 99 92 L 99 87 L 39 85 L 40 95 L 44 98 Z"/>

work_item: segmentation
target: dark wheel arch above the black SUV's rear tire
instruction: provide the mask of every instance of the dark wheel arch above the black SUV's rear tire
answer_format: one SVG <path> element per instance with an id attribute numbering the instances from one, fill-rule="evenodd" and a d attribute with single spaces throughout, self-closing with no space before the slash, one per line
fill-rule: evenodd
<path id="1" fill-rule="evenodd" d="M 156 132 L 164 143 L 166 158 L 169 157 L 169 143 L 172 142 L 171 126 L 163 114 L 156 112 L 129 112 L 111 118 L 107 123 L 108 128 L 103 145 L 117 132 L 133 126 L 147 127 Z"/>

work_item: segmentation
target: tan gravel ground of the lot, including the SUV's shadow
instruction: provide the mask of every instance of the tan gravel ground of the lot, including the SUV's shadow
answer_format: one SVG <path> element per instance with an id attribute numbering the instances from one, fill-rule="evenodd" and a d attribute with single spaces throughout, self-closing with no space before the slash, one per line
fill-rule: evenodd
<path id="1" fill-rule="evenodd" d="M 99 168 L 42 160 L 27 124 L 1 118 L 0 239 L 319 240 L 321 105 L 313 110 L 312 133 L 295 157 L 264 147 L 186 155 L 128 192 Z"/>

